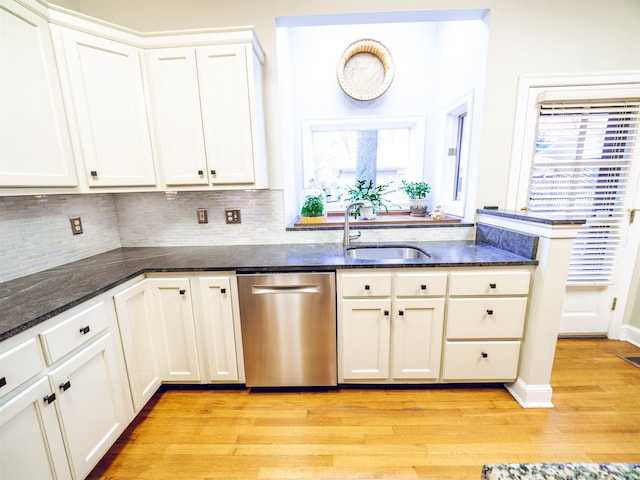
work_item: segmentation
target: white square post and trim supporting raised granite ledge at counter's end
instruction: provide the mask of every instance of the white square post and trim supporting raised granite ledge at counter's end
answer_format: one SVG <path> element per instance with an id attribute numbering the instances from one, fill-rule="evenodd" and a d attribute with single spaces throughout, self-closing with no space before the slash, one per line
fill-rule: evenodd
<path id="1" fill-rule="evenodd" d="M 582 223 L 576 221 L 531 221 L 527 214 L 518 218 L 480 213 L 478 222 L 508 230 L 537 235 L 539 264 L 533 275 L 529 312 L 520 351 L 518 378 L 506 385 L 513 397 L 526 408 L 552 408 L 551 370 L 564 303 L 564 292 L 573 239 Z M 531 219 L 528 220 L 527 218 Z"/>

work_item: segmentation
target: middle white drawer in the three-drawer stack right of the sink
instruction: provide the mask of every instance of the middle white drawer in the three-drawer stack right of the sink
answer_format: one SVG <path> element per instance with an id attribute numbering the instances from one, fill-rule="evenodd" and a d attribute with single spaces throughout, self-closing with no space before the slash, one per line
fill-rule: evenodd
<path id="1" fill-rule="evenodd" d="M 520 338 L 527 298 L 452 298 L 447 338 Z"/>

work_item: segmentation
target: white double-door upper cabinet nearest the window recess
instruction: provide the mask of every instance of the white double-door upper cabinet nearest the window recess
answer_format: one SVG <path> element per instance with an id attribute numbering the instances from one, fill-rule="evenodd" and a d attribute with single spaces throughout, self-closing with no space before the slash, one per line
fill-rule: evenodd
<path id="1" fill-rule="evenodd" d="M 146 55 L 165 183 L 267 187 L 262 67 L 254 45 Z"/>

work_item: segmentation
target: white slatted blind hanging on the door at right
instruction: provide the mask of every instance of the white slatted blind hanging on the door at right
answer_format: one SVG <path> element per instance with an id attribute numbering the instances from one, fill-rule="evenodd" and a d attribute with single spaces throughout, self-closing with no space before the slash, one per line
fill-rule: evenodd
<path id="1" fill-rule="evenodd" d="M 640 99 L 539 103 L 528 210 L 587 219 L 568 283 L 612 282 L 638 162 Z"/>

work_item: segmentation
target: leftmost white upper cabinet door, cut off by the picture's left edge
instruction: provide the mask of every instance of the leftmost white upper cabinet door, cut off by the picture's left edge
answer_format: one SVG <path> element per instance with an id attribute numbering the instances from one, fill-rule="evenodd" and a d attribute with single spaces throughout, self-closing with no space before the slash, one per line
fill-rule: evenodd
<path id="1" fill-rule="evenodd" d="M 76 186 L 49 26 L 0 0 L 0 186 Z"/>

